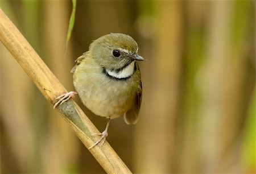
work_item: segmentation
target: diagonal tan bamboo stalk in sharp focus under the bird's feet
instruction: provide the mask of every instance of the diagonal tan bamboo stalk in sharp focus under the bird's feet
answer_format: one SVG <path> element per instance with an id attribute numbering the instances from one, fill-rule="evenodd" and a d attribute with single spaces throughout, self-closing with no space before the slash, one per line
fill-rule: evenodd
<path id="1" fill-rule="evenodd" d="M 0 40 L 49 103 L 53 105 L 57 96 L 67 92 L 2 9 L 0 9 Z M 99 131 L 73 100 L 58 106 L 57 110 L 86 148 L 94 144 L 95 139 L 92 134 Z M 89 151 L 107 173 L 131 173 L 108 142 Z"/>

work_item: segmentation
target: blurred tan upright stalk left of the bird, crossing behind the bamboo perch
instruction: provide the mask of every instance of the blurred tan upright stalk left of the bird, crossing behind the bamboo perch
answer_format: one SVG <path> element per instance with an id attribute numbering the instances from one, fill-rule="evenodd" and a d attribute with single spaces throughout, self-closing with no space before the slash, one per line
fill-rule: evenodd
<path id="1" fill-rule="evenodd" d="M 69 1 L 43 1 L 41 3 L 43 20 L 39 23 L 43 22 L 44 61 L 65 88 L 73 90 L 70 69 L 73 67 L 74 60 L 68 59 L 68 57 L 74 57 L 71 55 L 71 48 L 68 48 L 66 57 L 64 57 L 67 28 L 63 26 L 68 26 L 69 4 Z M 71 43 L 69 41 L 69 45 Z M 77 168 L 80 155 L 79 140 L 69 129 L 67 123 L 55 116 L 56 111 L 52 107 L 47 107 L 47 110 L 49 131 L 45 139 L 47 143 L 44 143 L 42 150 L 44 172 L 63 173 L 63 171 L 68 171 L 72 165 Z M 51 163 L 48 160 L 49 156 L 51 156 Z"/>

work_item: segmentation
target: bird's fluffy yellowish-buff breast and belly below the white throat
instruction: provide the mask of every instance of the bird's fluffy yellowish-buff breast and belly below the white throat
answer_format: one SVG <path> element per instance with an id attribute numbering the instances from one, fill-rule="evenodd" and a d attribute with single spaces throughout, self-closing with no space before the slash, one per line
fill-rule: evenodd
<path id="1" fill-rule="evenodd" d="M 93 66 L 93 65 L 92 65 Z M 102 73 L 102 68 L 80 64 L 73 83 L 81 101 L 94 114 L 119 117 L 134 103 L 135 86 L 129 80 L 117 81 Z"/>

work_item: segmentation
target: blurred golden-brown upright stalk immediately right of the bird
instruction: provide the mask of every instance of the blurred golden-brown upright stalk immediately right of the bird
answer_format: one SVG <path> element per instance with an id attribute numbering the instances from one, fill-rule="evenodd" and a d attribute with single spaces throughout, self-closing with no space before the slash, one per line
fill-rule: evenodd
<path id="1" fill-rule="evenodd" d="M 158 26 L 152 48 L 155 50 L 146 56 L 151 61 L 150 72 L 154 73 L 142 78 L 151 89 L 143 89 L 143 105 L 148 107 L 142 107 L 141 113 L 146 117 L 141 117 L 137 126 L 136 172 L 177 173 L 175 121 L 179 112 L 182 2 L 159 1 L 156 4 Z M 145 50 L 150 52 L 148 48 Z"/>

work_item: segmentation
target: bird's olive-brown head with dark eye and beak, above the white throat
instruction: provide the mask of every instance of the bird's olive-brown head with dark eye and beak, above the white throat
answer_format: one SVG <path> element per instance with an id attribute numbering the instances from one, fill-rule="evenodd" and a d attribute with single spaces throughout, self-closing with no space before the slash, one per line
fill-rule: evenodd
<path id="1" fill-rule="evenodd" d="M 138 55 L 138 45 L 133 38 L 125 34 L 108 34 L 94 40 L 89 52 L 93 59 L 109 71 L 118 71 L 135 60 L 144 60 Z"/>

